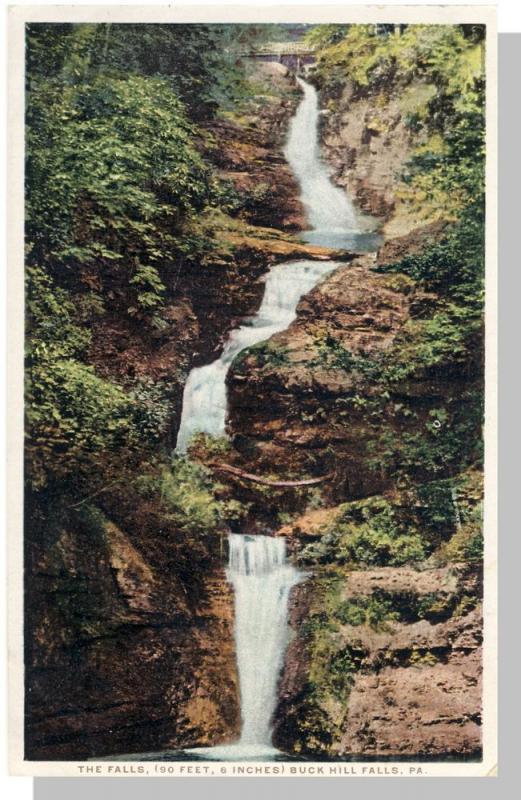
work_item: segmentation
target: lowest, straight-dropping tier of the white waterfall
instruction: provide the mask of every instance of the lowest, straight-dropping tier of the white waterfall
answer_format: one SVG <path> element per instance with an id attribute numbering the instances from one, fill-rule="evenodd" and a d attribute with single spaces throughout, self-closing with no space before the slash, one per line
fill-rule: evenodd
<path id="1" fill-rule="evenodd" d="M 289 592 L 301 579 L 286 560 L 285 539 L 230 534 L 228 580 L 235 591 L 240 746 L 271 745 L 271 717 L 288 641 Z"/>

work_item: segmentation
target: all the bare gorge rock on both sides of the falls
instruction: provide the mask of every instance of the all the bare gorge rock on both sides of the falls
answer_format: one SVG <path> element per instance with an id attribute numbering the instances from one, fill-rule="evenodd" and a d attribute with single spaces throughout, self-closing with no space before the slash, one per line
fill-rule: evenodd
<path id="1" fill-rule="evenodd" d="M 472 36 L 458 47 L 477 70 Z M 227 438 L 196 437 L 172 462 L 153 448 L 131 453 L 121 474 L 100 473 L 74 495 L 52 484 L 45 502 L 28 492 L 30 759 L 237 740 L 230 531 L 284 537 L 306 576 L 290 593 L 277 748 L 313 760 L 480 757 L 482 329 L 461 300 L 461 245 L 454 256 L 446 244 L 455 213 L 421 191 L 411 202 L 403 181 L 433 135 L 439 147 L 425 120 L 452 100 L 419 56 L 406 78 L 396 65 L 385 73 L 384 60 L 364 83 L 349 51 L 350 77 L 339 79 L 343 41 L 319 46 L 308 77 L 332 180 L 377 220 L 377 249 L 303 240 L 306 209 L 283 154 L 301 93 L 291 71 L 268 62 L 250 78 L 253 96 L 199 125 L 197 147 L 221 186 L 196 231 L 212 245 L 161 272 L 160 324 L 121 313 L 117 270 L 85 270 L 89 291 L 105 282 L 111 292 L 87 364 L 163 415 L 169 452 L 189 371 L 258 311 L 269 267 L 338 262 L 285 330 L 233 360 Z M 433 279 L 431 258 L 435 278 L 456 263 L 452 283 Z"/>

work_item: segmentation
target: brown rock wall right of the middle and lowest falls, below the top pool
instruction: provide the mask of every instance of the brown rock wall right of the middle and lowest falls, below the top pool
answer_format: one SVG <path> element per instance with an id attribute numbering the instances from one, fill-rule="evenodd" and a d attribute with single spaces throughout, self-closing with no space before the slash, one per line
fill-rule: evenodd
<path id="1" fill-rule="evenodd" d="M 432 235 L 438 228 L 412 241 L 390 242 L 379 261 Z M 457 548 L 448 559 L 439 555 L 444 547 L 454 550 L 450 542 L 458 536 L 470 540 L 472 525 L 462 533 L 451 522 L 422 549 L 431 535 L 420 513 L 423 501 L 403 494 L 379 455 L 382 432 L 414 434 L 433 409 L 463 391 L 465 376 L 404 381 L 390 398 L 403 417 L 385 411 L 375 416 L 371 402 L 381 387 L 364 373 L 364 364 L 388 353 L 434 298 L 405 278 L 375 273 L 374 266 L 368 256 L 337 269 L 303 298 L 295 322 L 268 347 L 239 359 L 229 378 L 229 427 L 245 457 L 278 476 L 333 470 L 319 497 L 326 507 L 307 511 L 279 531 L 313 577 L 293 593 L 294 639 L 280 684 L 274 741 L 314 757 L 477 758 L 479 567 L 459 563 Z M 475 509 L 479 477 L 470 484 L 469 508 Z M 361 516 L 357 511 L 349 517 L 339 539 L 342 517 L 331 506 L 357 498 Z M 301 499 L 300 507 L 306 502 Z M 389 527 L 381 526 L 380 542 L 371 509 L 381 503 L 393 511 Z M 394 542 L 402 536 L 398 553 Z M 369 564 L 413 566 L 360 568 L 357 561 L 363 564 L 364 558 Z"/>

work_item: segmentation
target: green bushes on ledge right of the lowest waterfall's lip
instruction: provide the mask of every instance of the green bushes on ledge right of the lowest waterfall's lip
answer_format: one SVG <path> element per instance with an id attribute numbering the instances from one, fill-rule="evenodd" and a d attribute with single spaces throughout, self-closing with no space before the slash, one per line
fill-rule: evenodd
<path id="1" fill-rule="evenodd" d="M 298 556 L 303 565 L 321 565 L 321 571 L 332 571 L 321 584 L 330 598 L 325 604 L 328 618 L 340 619 L 336 610 L 341 594 L 338 565 L 342 570 L 400 566 L 428 557 L 440 566 L 478 561 L 482 555 L 482 491 L 481 473 L 470 470 L 454 478 L 418 483 L 392 500 L 372 497 L 339 506 L 324 523 L 321 538 L 305 546 Z M 388 598 L 376 594 L 373 599 L 385 606 Z M 393 595 L 392 601 L 400 618 L 407 614 L 421 618 L 411 611 L 416 608 L 414 598 L 399 603 Z"/>

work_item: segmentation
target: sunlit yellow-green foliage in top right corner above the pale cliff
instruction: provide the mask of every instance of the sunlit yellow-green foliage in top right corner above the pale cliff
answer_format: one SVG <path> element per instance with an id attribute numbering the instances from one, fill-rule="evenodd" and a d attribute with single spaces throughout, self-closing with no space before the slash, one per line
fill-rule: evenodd
<path id="1" fill-rule="evenodd" d="M 455 219 L 483 198 L 482 31 L 469 34 L 458 25 L 408 25 L 401 33 L 377 28 L 314 29 L 308 37 L 318 45 L 318 82 L 336 96 L 349 81 L 355 93 L 381 100 L 383 107 L 386 97 L 398 96 L 412 135 L 422 134 L 401 197 L 417 216 Z"/>

